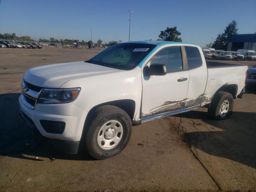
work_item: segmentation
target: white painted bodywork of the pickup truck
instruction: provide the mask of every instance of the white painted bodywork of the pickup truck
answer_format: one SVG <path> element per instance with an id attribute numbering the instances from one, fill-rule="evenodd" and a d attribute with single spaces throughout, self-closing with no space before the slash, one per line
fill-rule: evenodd
<path id="1" fill-rule="evenodd" d="M 85 62 L 72 62 L 41 66 L 28 70 L 24 79 L 36 86 L 46 88 L 74 88 L 81 91 L 74 102 L 66 104 L 36 104 L 28 108 L 19 98 L 21 110 L 33 120 L 43 136 L 60 140 L 80 141 L 88 112 L 99 104 L 115 100 L 133 100 L 135 112 L 132 120 L 140 120 L 140 108 L 144 116 L 161 109 L 163 104 L 170 107 L 199 99 L 201 106 L 210 102 L 215 92 L 224 84 L 238 85 L 239 94 L 244 87 L 247 66 L 206 68 L 204 54 L 199 46 L 202 66 L 164 76 L 143 75 L 144 66 L 162 48 L 168 46 L 194 46 L 190 44 L 168 44 L 158 48 L 142 65 L 133 70 L 118 70 Z M 178 82 L 179 78 L 188 78 Z M 207 85 L 207 86 L 206 86 Z M 206 98 L 202 100 L 202 95 Z M 142 100 L 141 100 L 142 99 Z M 168 102 L 171 102 L 168 104 Z M 141 106 L 142 103 L 142 106 Z M 63 134 L 49 134 L 39 120 L 66 122 Z"/>

